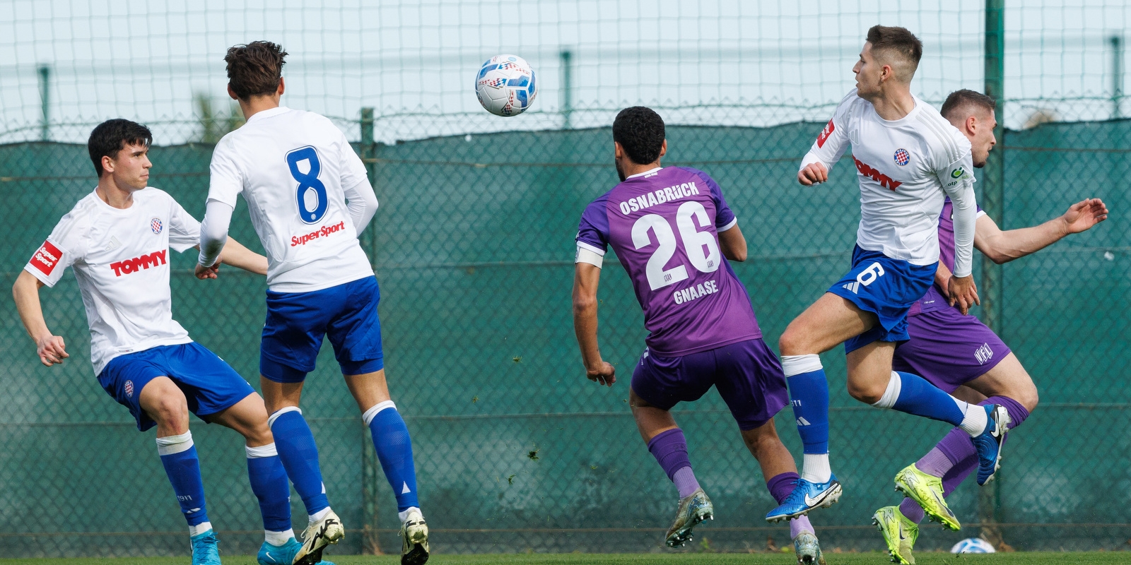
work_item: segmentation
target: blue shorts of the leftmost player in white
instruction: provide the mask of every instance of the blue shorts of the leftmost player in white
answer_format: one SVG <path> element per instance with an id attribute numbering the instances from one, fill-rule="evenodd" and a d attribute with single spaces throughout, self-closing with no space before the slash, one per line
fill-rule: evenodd
<path id="1" fill-rule="evenodd" d="M 145 432 L 157 425 L 141 409 L 141 389 L 158 376 L 167 376 L 189 403 L 189 411 L 204 418 L 226 410 L 256 393 L 224 359 L 197 342 L 157 346 L 144 351 L 120 355 L 98 374 L 98 384 L 118 403 L 130 409 Z"/>

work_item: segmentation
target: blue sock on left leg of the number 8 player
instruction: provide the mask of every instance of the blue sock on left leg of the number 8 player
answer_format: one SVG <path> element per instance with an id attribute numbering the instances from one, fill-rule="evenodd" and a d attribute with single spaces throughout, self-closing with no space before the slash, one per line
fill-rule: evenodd
<path id="1" fill-rule="evenodd" d="M 294 489 L 302 497 L 307 513 L 316 514 L 330 507 L 322 485 L 322 471 L 318 468 L 318 446 L 302 410 L 294 406 L 283 408 L 267 418 L 267 425 L 275 435 L 279 459 Z"/>

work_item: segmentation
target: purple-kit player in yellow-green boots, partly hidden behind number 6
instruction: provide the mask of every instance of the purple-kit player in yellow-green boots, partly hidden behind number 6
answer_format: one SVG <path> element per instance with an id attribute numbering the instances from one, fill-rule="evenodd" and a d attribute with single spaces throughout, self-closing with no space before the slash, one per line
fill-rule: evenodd
<path id="1" fill-rule="evenodd" d="M 985 165 L 995 144 L 994 99 L 973 90 L 957 90 L 942 105 L 942 116 L 970 141 L 974 167 Z M 955 228 L 951 203 L 939 216 L 939 270 L 934 285 L 912 306 L 907 333 L 910 340 L 896 348 L 893 366 L 914 372 L 946 392 L 983 399 L 1009 410 L 1009 428 L 1020 426 L 1037 406 L 1037 388 L 1017 356 L 977 318 L 955 307 L 948 296 L 955 268 Z M 1099 199 L 1081 200 L 1062 216 L 1044 224 L 1001 231 L 978 212 L 974 245 L 996 263 L 1012 261 L 1051 245 L 1069 234 L 1087 231 L 1107 219 Z M 898 506 L 884 506 L 873 516 L 896 563 L 915 563 L 912 547 L 924 514 L 958 530 L 961 525 L 947 506 L 946 496 L 977 468 L 970 436 L 955 428 L 917 462 L 899 471 L 896 485 L 907 495 Z"/>

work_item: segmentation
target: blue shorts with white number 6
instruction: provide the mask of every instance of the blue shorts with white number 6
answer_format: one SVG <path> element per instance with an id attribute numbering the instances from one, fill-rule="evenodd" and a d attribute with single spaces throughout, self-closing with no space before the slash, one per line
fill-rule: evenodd
<path id="1" fill-rule="evenodd" d="M 828 292 L 874 313 L 880 319 L 880 325 L 846 340 L 845 353 L 873 341 L 900 342 L 910 339 L 907 334 L 907 311 L 931 288 L 938 268 L 938 262 L 912 264 L 856 245 L 852 252 L 852 270 Z"/>

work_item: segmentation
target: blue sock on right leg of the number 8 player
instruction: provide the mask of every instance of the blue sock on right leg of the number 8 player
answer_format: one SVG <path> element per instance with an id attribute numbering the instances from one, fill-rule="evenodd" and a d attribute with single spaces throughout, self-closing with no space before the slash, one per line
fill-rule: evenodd
<path id="1" fill-rule="evenodd" d="M 408 427 L 391 400 L 379 402 L 362 415 L 373 436 L 373 447 L 381 461 L 385 478 L 397 497 L 398 513 L 420 507 L 416 498 L 416 468 L 413 464 L 413 443 Z M 404 518 L 402 516 L 402 520 Z"/>

